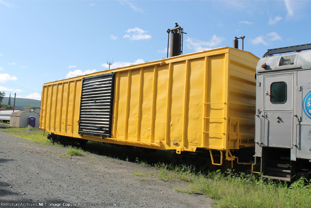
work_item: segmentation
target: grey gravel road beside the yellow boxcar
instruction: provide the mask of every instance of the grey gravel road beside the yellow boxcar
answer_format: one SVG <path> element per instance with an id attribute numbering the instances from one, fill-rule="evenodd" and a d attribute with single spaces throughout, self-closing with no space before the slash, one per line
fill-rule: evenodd
<path id="1" fill-rule="evenodd" d="M 161 181 L 154 167 L 91 153 L 84 157 L 63 156 L 66 151 L 65 147 L 38 145 L 9 136 L 0 129 L 0 207 L 12 207 L 1 203 L 28 203 L 27 207 L 72 203 L 72 207 L 98 207 L 97 203 L 99 207 L 116 207 L 109 203 L 118 207 L 213 205 L 213 200 L 202 195 L 175 191 L 174 187 L 185 187 L 186 183 Z M 144 174 L 143 181 L 133 174 L 136 171 Z"/>

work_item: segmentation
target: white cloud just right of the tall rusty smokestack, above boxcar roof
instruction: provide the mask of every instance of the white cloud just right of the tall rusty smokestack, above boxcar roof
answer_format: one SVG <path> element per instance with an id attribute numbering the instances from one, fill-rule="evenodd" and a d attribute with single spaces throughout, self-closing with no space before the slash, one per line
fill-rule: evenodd
<path id="1" fill-rule="evenodd" d="M 193 49 L 194 51 L 203 51 L 203 50 L 209 50 L 212 47 L 218 46 L 222 41 L 224 41 L 225 38 L 223 37 L 217 37 L 216 34 L 213 35 L 211 40 L 208 41 L 201 41 L 201 40 L 193 40 L 193 38 L 188 37 L 186 40 L 187 47 L 189 49 Z"/>

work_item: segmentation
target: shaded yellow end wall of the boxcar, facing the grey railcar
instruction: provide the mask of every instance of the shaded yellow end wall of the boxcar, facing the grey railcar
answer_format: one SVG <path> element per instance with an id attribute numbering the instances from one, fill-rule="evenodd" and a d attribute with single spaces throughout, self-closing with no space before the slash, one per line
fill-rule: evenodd
<path id="1" fill-rule="evenodd" d="M 251 66 L 257 64 L 258 57 L 243 56 L 244 51 L 230 49 L 230 79 L 229 79 L 229 117 L 238 120 L 237 135 L 239 143 L 230 139 L 231 149 L 254 146 L 255 131 L 255 100 L 256 80 Z"/>

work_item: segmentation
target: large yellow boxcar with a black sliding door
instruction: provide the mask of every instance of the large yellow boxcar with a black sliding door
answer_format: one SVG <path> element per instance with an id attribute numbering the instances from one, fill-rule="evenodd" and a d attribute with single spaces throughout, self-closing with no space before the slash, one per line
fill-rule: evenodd
<path id="1" fill-rule="evenodd" d="M 222 47 L 49 82 L 40 128 L 177 153 L 218 150 L 234 160 L 234 150 L 254 147 L 258 60 Z"/>

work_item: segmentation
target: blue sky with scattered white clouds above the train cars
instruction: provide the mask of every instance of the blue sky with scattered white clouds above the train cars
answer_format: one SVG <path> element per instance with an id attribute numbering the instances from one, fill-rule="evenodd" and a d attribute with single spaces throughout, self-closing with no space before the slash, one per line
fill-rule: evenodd
<path id="1" fill-rule="evenodd" d="M 3 1 L 0 91 L 41 99 L 42 84 L 166 58 L 167 33 L 184 28 L 183 54 L 311 43 L 311 1 Z M 239 41 L 239 48 L 242 48 Z"/>

